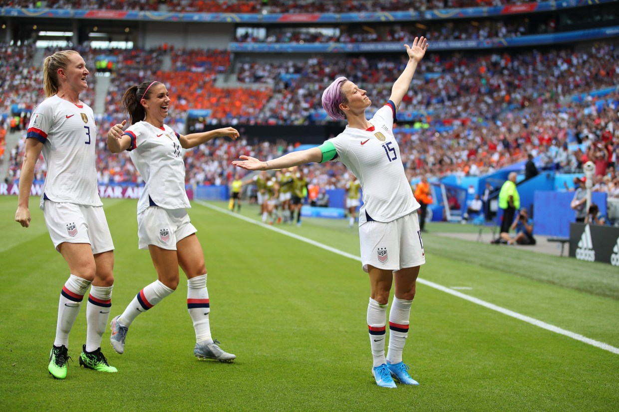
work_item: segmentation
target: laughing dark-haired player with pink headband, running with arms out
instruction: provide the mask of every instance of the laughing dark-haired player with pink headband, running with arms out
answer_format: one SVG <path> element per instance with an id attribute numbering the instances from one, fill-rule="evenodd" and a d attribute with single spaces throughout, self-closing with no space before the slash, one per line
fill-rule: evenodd
<path id="1" fill-rule="evenodd" d="M 130 151 L 131 160 L 144 178 L 144 191 L 137 203 L 137 235 L 139 248 L 150 251 L 158 279 L 137 293 L 123 314 L 112 319 L 111 345 L 116 352 L 124 352 L 129 326 L 137 315 L 176 290 L 181 266 L 188 279 L 187 308 L 196 330 L 194 355 L 232 361 L 236 356 L 223 351 L 210 335 L 207 272 L 196 228 L 186 210 L 191 205 L 185 191 L 181 148 L 193 148 L 220 136 L 235 140 L 238 132 L 232 127 L 186 136 L 174 132 L 163 124 L 170 97 L 160 82 L 129 87 L 123 105 L 131 126 L 123 133 L 126 120 L 114 125 L 108 132 L 108 148 L 113 153 Z"/>

